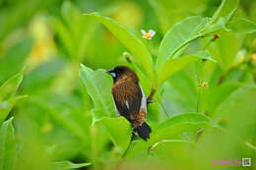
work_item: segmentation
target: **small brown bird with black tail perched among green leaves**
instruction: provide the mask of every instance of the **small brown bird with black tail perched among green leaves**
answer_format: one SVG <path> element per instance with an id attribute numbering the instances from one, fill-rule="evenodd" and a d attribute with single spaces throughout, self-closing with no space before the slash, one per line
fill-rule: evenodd
<path id="1" fill-rule="evenodd" d="M 150 139 L 151 127 L 145 122 L 147 97 L 136 73 L 127 66 L 116 66 L 107 71 L 113 79 L 111 93 L 118 116 L 125 117 L 144 141 Z"/>

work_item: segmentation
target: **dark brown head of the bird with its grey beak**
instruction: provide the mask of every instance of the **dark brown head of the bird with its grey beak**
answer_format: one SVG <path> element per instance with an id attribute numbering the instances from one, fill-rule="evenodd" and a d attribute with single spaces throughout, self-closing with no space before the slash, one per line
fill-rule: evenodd
<path id="1" fill-rule="evenodd" d="M 113 69 L 108 70 L 107 73 L 111 75 L 114 83 L 122 79 L 129 79 L 131 81 L 134 81 L 135 83 L 139 82 L 139 79 L 135 72 L 126 66 L 117 66 Z"/>

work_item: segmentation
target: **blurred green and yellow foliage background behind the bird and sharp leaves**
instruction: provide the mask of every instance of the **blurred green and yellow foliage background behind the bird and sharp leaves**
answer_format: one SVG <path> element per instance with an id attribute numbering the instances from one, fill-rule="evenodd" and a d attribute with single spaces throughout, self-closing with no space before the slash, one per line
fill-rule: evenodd
<path id="1" fill-rule="evenodd" d="M 98 12 L 111 17 L 138 37 L 142 28 L 156 30 L 151 41 L 141 37 L 156 60 L 160 40 L 169 28 L 188 16 L 211 17 L 220 4 L 221 0 L 0 0 L 0 85 L 24 70 L 17 95 L 27 95 L 7 118 L 14 117 L 16 169 L 56 169 L 52 162 L 62 160 L 93 162 L 81 169 L 119 168 L 113 143 L 103 129 L 91 126 L 94 104 L 79 78 L 79 64 L 94 70 L 127 65 L 123 54 L 127 49 L 109 30 L 81 14 Z M 235 16 L 256 23 L 256 1 L 241 0 Z M 203 44 L 196 41 L 186 52 Z M 225 99 L 222 105 L 213 104 L 218 107 L 212 112 L 205 112 L 223 128 L 218 132 L 209 129 L 192 146 L 165 143 L 146 157 L 134 153 L 122 169 L 148 165 L 148 169 L 205 169 L 213 158 L 243 156 L 252 157 L 256 168 L 256 33 L 223 32 L 209 51 L 214 58 L 225 55 L 233 59 L 209 64 L 202 76 L 216 100 Z M 190 66 L 164 84 L 161 104 L 149 108 L 153 125 L 166 118 L 165 112 L 173 116 L 197 110 L 195 72 Z M 223 78 L 236 84 L 211 88 L 222 84 Z M 149 94 L 151 86 L 144 88 Z"/>

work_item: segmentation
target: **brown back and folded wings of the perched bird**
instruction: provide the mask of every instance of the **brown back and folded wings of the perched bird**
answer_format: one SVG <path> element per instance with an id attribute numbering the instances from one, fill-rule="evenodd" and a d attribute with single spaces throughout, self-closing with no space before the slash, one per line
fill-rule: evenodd
<path id="1" fill-rule="evenodd" d="M 120 82 L 113 85 L 112 94 L 119 114 L 133 123 L 141 108 L 143 94 L 140 86 L 133 82 Z"/>

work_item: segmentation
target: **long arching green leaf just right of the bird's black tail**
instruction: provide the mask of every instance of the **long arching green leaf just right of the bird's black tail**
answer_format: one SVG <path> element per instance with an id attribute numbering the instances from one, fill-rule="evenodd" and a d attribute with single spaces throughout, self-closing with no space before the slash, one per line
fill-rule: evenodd
<path id="1" fill-rule="evenodd" d="M 150 141 L 136 142 L 133 149 L 128 152 L 128 156 L 134 157 L 145 151 L 148 152 L 149 147 L 163 140 L 184 140 L 184 136 L 188 134 L 196 135 L 198 130 L 208 126 L 218 127 L 204 114 L 178 114 L 161 122 L 156 128 L 153 128 Z M 146 155 L 148 155 L 147 152 Z"/>

